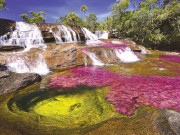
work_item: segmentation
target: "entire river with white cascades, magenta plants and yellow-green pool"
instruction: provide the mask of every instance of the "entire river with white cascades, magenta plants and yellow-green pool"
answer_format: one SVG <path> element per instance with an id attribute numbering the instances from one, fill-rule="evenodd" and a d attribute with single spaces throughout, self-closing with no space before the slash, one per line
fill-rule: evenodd
<path id="1" fill-rule="evenodd" d="M 35 24 L 16 25 L 9 39 L 8 34 L 1 36 L 0 44 L 16 43 L 29 50 L 1 53 L 8 69 L 45 76 L 41 83 L 0 96 L 0 134 L 174 133 L 168 120 L 159 116 L 167 109 L 180 111 L 179 53 L 147 54 L 143 47 L 141 52 L 134 53 L 129 46 L 135 45 L 132 41 L 101 42 L 99 36 L 82 28 L 87 42 L 81 44 L 78 58 L 85 66 L 57 68 L 46 75 L 49 69 L 42 52 L 47 50 L 42 49 L 46 45 L 39 29 Z M 48 30 L 58 45 L 80 40 L 73 28 L 57 27 Z"/>

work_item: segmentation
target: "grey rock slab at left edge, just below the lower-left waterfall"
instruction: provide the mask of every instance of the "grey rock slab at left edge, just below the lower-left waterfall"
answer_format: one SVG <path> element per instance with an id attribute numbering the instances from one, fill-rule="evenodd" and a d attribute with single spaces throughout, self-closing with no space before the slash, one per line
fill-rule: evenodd
<path id="1" fill-rule="evenodd" d="M 35 82 L 41 81 L 41 76 L 34 73 L 0 72 L 0 95 L 20 90 Z"/>

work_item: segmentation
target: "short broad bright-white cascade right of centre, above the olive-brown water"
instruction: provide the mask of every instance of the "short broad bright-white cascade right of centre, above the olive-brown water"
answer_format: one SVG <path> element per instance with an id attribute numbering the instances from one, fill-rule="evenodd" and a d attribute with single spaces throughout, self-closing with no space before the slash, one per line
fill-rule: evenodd
<path id="1" fill-rule="evenodd" d="M 124 63 L 131 63 L 138 61 L 138 57 L 131 51 L 129 47 L 125 49 L 115 49 L 116 56 Z"/>

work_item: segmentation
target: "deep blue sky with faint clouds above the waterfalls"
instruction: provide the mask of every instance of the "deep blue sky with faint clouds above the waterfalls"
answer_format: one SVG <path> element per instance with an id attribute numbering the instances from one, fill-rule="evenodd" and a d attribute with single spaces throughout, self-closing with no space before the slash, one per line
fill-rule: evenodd
<path id="1" fill-rule="evenodd" d="M 5 0 L 8 10 L 0 11 L 0 18 L 22 21 L 20 14 L 29 14 L 29 11 L 44 11 L 47 23 L 55 23 L 56 19 L 63 17 L 70 12 L 83 18 L 80 11 L 82 5 L 86 5 L 88 10 L 86 15 L 95 13 L 98 21 L 103 21 L 111 14 L 110 7 L 116 0 Z"/>

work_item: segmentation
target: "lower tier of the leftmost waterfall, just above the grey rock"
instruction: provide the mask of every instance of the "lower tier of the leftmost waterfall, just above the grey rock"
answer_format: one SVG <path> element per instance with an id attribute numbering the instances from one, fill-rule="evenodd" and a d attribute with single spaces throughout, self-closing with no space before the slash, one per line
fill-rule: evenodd
<path id="1" fill-rule="evenodd" d="M 46 75 L 49 69 L 41 54 L 11 54 L 6 55 L 7 67 L 12 72 L 17 73 L 38 73 Z"/>

